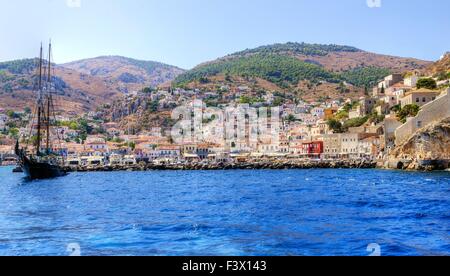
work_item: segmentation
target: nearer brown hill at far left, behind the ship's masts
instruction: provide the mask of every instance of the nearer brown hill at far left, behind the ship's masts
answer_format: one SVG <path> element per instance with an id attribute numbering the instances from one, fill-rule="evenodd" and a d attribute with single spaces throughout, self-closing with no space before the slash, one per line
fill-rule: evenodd
<path id="1" fill-rule="evenodd" d="M 36 59 L 0 63 L 0 108 L 21 111 L 35 102 Z M 95 110 L 105 98 L 121 93 L 102 79 L 54 65 L 58 109 L 64 113 Z"/>

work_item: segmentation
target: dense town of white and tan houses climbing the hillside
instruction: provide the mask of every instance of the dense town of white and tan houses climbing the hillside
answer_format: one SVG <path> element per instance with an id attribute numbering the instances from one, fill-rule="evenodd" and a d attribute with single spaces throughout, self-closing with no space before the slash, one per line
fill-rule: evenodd
<path id="1" fill-rule="evenodd" d="M 58 116 L 52 145 L 69 166 L 255 158 L 388 161 L 416 131 L 450 116 L 448 87 L 448 75 L 392 74 L 364 97 L 345 98 L 344 93 L 310 102 L 246 86 L 145 88 L 96 112 Z M 180 114 L 195 115 L 183 119 L 180 108 Z M 270 115 L 261 123 L 263 110 Z M 27 133 L 32 110 L 0 114 L 2 156 L 12 154 L 16 139 L 32 148 L 33 136 Z M 175 139 L 180 122 L 188 123 L 183 131 L 189 134 Z"/>

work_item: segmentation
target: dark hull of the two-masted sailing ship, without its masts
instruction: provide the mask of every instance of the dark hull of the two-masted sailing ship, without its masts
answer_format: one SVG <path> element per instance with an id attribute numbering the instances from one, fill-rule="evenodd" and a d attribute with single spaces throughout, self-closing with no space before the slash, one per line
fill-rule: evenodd
<path id="1" fill-rule="evenodd" d="M 20 158 L 20 167 L 30 180 L 49 179 L 67 175 L 67 172 L 60 166 L 30 160 L 25 156 Z"/>

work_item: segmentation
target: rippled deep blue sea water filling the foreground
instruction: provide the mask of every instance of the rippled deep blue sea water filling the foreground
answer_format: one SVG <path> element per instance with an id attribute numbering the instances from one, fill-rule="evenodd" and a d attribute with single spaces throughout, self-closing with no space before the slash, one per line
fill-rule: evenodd
<path id="1" fill-rule="evenodd" d="M 450 255 L 448 172 L 11 169 L 0 255 Z"/>

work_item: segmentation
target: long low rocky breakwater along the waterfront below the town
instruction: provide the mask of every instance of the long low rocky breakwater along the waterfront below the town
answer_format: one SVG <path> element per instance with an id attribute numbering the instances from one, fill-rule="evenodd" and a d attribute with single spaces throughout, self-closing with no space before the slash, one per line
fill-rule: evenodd
<path id="1" fill-rule="evenodd" d="M 68 172 L 91 171 L 148 171 L 148 170 L 285 170 L 285 169 L 374 169 L 377 162 L 366 160 L 342 161 L 305 161 L 305 160 L 266 160 L 236 163 L 177 163 L 114 165 L 114 166 L 77 166 L 66 167 Z"/>

